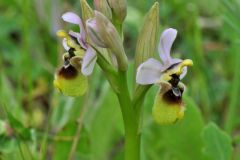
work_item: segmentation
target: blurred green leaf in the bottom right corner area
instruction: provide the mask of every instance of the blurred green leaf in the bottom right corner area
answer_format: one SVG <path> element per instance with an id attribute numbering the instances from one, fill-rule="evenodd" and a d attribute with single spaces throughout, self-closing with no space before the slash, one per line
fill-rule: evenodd
<path id="1" fill-rule="evenodd" d="M 204 153 L 211 160 L 230 160 L 232 155 L 231 138 L 214 123 L 203 130 Z"/>

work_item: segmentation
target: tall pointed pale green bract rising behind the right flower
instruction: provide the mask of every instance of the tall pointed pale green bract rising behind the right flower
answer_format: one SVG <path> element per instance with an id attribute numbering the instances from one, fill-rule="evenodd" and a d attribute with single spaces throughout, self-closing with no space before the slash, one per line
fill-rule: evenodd
<path id="1" fill-rule="evenodd" d="M 135 52 L 135 70 L 141 63 L 154 57 L 157 47 L 158 28 L 159 5 L 156 2 L 146 15 L 138 36 Z"/>

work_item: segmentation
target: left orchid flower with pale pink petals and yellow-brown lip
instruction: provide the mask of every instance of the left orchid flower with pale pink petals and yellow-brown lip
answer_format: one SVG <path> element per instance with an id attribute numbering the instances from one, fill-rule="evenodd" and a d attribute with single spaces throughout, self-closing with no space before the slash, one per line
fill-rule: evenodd
<path id="1" fill-rule="evenodd" d="M 59 30 L 66 53 L 63 55 L 64 65 L 55 75 L 54 85 L 65 95 L 83 95 L 88 86 L 89 76 L 95 66 L 96 51 L 87 43 L 86 32 L 81 18 L 72 12 L 63 14 L 66 22 L 79 25 L 80 32 Z"/>

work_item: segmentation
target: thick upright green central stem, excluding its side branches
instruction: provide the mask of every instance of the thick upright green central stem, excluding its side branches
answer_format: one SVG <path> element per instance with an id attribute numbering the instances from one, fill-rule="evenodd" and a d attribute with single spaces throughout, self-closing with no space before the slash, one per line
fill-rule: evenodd
<path id="1" fill-rule="evenodd" d="M 119 93 L 117 94 L 121 106 L 125 129 L 125 160 L 140 160 L 140 133 L 138 132 L 139 118 L 134 112 L 130 98 L 126 72 L 119 71 Z"/>

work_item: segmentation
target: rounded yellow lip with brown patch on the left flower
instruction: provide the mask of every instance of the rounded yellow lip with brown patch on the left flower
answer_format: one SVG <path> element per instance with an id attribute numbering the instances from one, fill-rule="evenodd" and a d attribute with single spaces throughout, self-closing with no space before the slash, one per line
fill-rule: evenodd
<path id="1" fill-rule="evenodd" d="M 88 89 L 87 77 L 75 67 L 62 67 L 55 75 L 54 86 L 66 96 L 81 96 Z"/>

